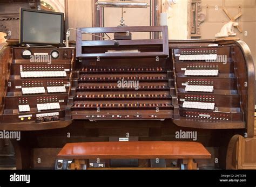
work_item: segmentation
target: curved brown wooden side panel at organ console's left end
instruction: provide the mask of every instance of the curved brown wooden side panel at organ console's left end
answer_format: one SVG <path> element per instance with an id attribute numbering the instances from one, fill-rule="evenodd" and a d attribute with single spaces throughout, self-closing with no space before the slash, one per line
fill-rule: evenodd
<path id="1" fill-rule="evenodd" d="M 11 47 L 7 43 L 0 44 L 0 116 L 4 109 L 4 96 L 6 95 L 6 88 L 8 84 L 6 80 L 10 74 L 11 61 Z"/>

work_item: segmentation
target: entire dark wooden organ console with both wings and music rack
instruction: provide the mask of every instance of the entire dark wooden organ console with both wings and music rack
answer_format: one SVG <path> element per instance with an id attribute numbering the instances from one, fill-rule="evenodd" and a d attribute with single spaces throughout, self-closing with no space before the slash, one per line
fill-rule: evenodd
<path id="1" fill-rule="evenodd" d="M 162 38 L 118 40 L 116 47 L 84 41 L 77 32 L 76 50 L 2 45 L 0 128 L 22 131 L 22 140 L 12 141 L 17 168 L 53 169 L 69 142 L 127 133 L 139 141 L 177 141 L 177 131 L 197 131 L 197 141 L 220 160 L 211 166 L 225 168 L 232 136 L 253 137 L 254 64 L 244 42 L 169 41 L 166 26 L 78 29 L 161 32 Z M 31 62 L 30 55 L 52 61 Z"/>

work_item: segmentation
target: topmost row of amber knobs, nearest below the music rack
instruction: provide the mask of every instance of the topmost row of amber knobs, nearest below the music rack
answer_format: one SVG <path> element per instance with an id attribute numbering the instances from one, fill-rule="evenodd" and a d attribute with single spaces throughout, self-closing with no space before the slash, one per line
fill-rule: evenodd
<path id="1" fill-rule="evenodd" d="M 163 71 L 163 68 L 82 68 L 82 72 Z"/>

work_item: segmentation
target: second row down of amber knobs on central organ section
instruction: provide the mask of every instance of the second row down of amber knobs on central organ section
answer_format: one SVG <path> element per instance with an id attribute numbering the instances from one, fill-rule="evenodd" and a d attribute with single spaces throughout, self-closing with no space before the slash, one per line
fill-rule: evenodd
<path id="1" fill-rule="evenodd" d="M 119 80 L 164 80 L 164 76 L 131 76 L 131 77 L 89 77 L 86 75 L 80 76 L 80 80 L 88 81 L 119 81 Z"/>

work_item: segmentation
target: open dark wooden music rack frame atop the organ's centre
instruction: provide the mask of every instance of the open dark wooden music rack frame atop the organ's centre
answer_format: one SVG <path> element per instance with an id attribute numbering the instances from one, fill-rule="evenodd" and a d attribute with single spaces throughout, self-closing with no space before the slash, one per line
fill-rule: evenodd
<path id="1" fill-rule="evenodd" d="M 76 39 L 76 53 L 78 58 L 83 57 L 127 57 L 127 56 L 169 56 L 168 47 L 168 30 L 167 26 L 133 26 L 133 27 L 91 27 L 91 28 L 78 28 L 81 32 L 77 31 Z M 82 53 L 83 46 L 107 46 L 113 45 L 114 42 L 110 40 L 97 40 L 97 41 L 84 41 L 82 39 L 82 32 L 87 33 L 124 33 L 124 32 L 162 32 L 163 39 L 144 39 L 144 40 L 119 40 L 120 46 L 122 45 L 162 45 L 162 52 L 144 52 L 144 53 L 95 53 L 84 54 Z"/>

